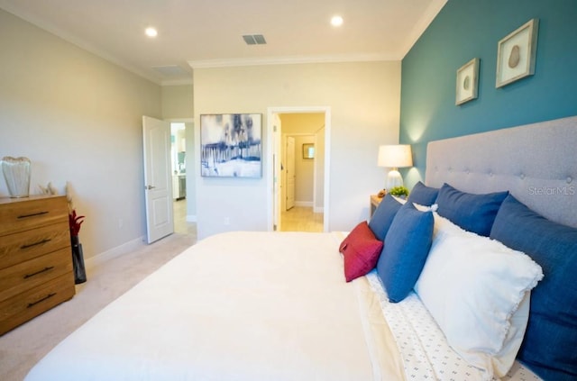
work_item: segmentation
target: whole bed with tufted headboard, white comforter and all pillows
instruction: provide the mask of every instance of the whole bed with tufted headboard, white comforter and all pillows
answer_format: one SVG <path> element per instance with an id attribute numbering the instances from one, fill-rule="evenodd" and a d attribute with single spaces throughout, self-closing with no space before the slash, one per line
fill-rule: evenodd
<path id="1" fill-rule="evenodd" d="M 430 142 L 408 200 L 201 240 L 26 380 L 572 379 L 574 147 L 577 117 Z"/>

